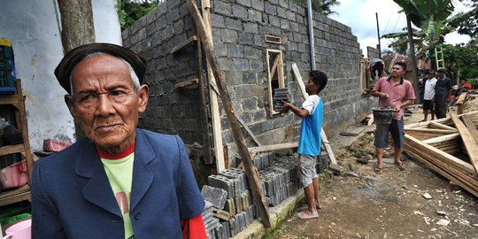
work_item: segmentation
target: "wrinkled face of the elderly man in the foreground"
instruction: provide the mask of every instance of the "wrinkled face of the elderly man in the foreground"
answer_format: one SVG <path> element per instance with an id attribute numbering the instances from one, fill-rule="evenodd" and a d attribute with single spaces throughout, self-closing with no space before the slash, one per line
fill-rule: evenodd
<path id="1" fill-rule="evenodd" d="M 148 87 L 136 92 L 126 63 L 105 54 L 82 60 L 72 77 L 74 96 L 65 99 L 75 122 L 99 149 L 126 150 L 135 142 L 138 114 L 148 104 Z"/>

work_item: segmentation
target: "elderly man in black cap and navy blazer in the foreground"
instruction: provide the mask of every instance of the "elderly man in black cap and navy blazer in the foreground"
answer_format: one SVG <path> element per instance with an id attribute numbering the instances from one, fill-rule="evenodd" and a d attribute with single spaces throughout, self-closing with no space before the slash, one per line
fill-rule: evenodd
<path id="1" fill-rule="evenodd" d="M 204 199 L 181 139 L 136 128 L 145 60 L 108 43 L 55 70 L 87 138 L 35 164 L 33 238 L 205 238 Z"/>

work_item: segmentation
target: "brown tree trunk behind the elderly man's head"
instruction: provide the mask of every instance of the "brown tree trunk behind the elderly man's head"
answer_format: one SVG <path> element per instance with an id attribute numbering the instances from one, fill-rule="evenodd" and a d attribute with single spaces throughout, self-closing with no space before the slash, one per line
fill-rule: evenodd
<path id="1" fill-rule="evenodd" d="M 61 15 L 61 43 L 68 52 L 83 44 L 95 42 L 95 26 L 91 0 L 58 0 Z M 76 140 L 85 135 L 83 128 L 74 124 Z"/>

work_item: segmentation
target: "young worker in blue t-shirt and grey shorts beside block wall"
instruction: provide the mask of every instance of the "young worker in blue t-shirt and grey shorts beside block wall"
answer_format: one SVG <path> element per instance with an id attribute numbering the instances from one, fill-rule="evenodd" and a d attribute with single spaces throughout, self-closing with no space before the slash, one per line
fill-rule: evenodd
<path id="1" fill-rule="evenodd" d="M 309 80 L 305 91 L 309 96 L 305 102 L 297 107 L 287 102 L 282 102 L 282 112 L 291 110 L 302 118 L 300 138 L 297 153 L 299 155 L 299 175 L 302 187 L 307 200 L 307 210 L 297 214 L 300 219 L 318 218 L 316 210 L 321 208 L 319 200 L 319 178 L 315 171 L 317 157 L 320 155 L 320 131 L 322 129 L 322 118 L 324 104 L 318 96 L 319 92 L 327 85 L 328 77 L 320 71 L 309 73 Z"/>

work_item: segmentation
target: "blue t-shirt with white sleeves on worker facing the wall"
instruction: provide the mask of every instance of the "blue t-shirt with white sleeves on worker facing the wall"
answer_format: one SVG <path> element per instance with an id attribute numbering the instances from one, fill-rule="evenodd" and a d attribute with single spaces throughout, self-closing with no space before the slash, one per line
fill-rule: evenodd
<path id="1" fill-rule="evenodd" d="M 301 108 L 309 111 L 309 114 L 302 119 L 297 153 L 318 156 L 324 104 L 320 96 L 312 95 L 307 97 Z"/>

